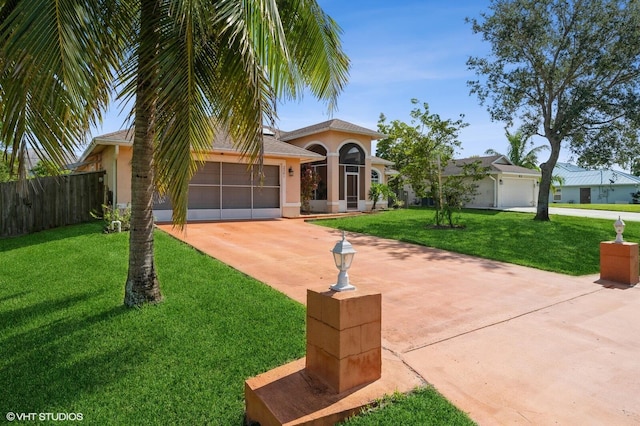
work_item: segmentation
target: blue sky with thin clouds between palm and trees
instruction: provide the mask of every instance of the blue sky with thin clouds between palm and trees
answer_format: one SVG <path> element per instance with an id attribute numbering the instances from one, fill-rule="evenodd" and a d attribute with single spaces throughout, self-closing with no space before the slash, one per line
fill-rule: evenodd
<path id="1" fill-rule="evenodd" d="M 459 156 L 488 148 L 505 152 L 504 123 L 492 122 L 485 107 L 469 94 L 469 56 L 484 56 L 490 46 L 474 35 L 465 17 L 486 11 L 488 0 L 318 0 L 343 29 L 343 48 L 351 59 L 349 84 L 333 116 L 311 95 L 279 105 L 278 127 L 293 130 L 340 118 L 376 129 L 380 113 L 409 122 L 411 99 L 427 102 L 443 119 L 465 115 Z M 92 136 L 119 130 L 118 108 Z M 542 139 L 536 144 L 544 144 Z M 543 153 L 541 160 L 546 159 Z"/>

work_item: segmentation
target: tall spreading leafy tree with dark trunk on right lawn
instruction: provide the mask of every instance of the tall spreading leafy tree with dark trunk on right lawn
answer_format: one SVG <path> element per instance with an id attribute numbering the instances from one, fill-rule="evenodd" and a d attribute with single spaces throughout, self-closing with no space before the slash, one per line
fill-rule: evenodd
<path id="1" fill-rule="evenodd" d="M 640 3 L 493 0 L 488 13 L 468 21 L 492 48 L 467 62 L 482 77 L 469 82 L 471 92 L 494 120 L 518 118 L 549 142 L 535 216 L 549 220 L 563 144 L 593 163 L 624 163 L 621 154 L 638 145 Z"/>

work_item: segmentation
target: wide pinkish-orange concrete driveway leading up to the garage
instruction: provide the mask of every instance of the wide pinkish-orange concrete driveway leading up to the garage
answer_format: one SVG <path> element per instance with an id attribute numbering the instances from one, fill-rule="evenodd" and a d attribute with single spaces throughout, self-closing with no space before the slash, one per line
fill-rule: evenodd
<path id="1" fill-rule="evenodd" d="M 160 228 L 301 303 L 337 275 L 339 231 L 302 220 Z M 478 423 L 640 424 L 640 286 L 347 239 L 352 283 L 382 293 L 385 351 Z"/>

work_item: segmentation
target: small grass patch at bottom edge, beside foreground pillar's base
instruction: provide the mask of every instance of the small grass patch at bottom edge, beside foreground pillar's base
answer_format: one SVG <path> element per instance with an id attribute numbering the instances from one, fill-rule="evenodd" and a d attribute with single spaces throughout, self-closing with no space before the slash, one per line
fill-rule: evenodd
<path id="1" fill-rule="evenodd" d="M 402 425 L 439 426 L 473 425 L 466 414 L 445 400 L 433 387 L 416 389 L 409 394 L 396 393 L 379 405 L 342 423 L 347 426 Z"/>

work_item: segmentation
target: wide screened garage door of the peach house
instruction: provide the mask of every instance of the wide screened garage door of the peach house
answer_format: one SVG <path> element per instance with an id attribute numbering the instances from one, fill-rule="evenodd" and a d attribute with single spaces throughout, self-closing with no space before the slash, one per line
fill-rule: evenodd
<path id="1" fill-rule="evenodd" d="M 188 220 L 265 219 L 281 217 L 280 166 L 207 162 L 189 183 Z M 158 199 L 154 215 L 171 220 L 171 204 Z"/>

